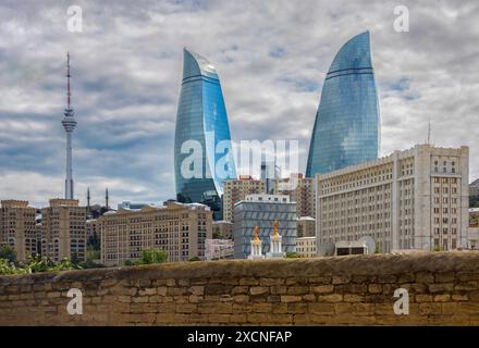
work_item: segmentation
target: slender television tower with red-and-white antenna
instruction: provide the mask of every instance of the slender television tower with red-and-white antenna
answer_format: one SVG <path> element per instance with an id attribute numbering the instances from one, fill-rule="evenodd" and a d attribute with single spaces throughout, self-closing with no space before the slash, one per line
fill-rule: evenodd
<path id="1" fill-rule="evenodd" d="M 62 120 L 62 125 L 66 133 L 65 199 L 73 199 L 72 133 L 76 126 L 75 115 L 73 114 L 70 98 L 70 53 L 66 53 L 66 109 Z"/>

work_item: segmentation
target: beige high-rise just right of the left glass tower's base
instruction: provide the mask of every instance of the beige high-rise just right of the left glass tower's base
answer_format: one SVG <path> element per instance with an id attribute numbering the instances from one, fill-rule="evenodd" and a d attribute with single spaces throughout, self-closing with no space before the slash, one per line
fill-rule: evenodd
<path id="1" fill-rule="evenodd" d="M 223 220 L 233 222 L 234 204 L 247 195 L 265 194 L 265 181 L 254 179 L 250 175 L 241 175 L 240 179 L 226 181 L 223 184 Z"/>

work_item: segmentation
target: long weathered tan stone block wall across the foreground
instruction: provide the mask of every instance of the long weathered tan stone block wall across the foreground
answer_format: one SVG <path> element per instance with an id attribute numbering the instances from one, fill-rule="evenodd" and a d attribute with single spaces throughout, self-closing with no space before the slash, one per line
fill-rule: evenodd
<path id="1" fill-rule="evenodd" d="M 83 314 L 70 315 L 70 288 Z M 394 290 L 409 293 L 396 315 Z M 479 252 L 185 262 L 0 277 L 1 325 L 477 325 Z"/>

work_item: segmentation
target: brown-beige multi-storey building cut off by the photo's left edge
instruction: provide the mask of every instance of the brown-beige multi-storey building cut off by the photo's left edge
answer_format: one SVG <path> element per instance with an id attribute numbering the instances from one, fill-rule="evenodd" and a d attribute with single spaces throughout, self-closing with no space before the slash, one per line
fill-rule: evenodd
<path id="1" fill-rule="evenodd" d="M 14 248 L 20 261 L 37 254 L 40 240 L 35 228 L 36 209 L 25 200 L 2 200 L 0 204 L 0 245 Z"/>

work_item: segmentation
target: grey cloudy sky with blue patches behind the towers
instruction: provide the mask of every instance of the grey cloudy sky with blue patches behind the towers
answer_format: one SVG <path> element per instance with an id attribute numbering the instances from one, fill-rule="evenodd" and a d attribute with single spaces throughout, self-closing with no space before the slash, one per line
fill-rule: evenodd
<path id="1" fill-rule="evenodd" d="M 73 1 L 73 0 L 72 0 Z M 369 29 L 381 154 L 427 138 L 470 146 L 479 177 L 478 1 L 19 1 L 0 3 L 0 199 L 63 196 L 65 54 L 71 52 L 75 194 L 101 202 L 174 197 L 182 49 L 207 57 L 232 138 L 297 139 L 304 170 L 324 75 Z M 83 32 L 67 30 L 67 9 Z M 394 30 L 394 8 L 409 32 Z"/>

